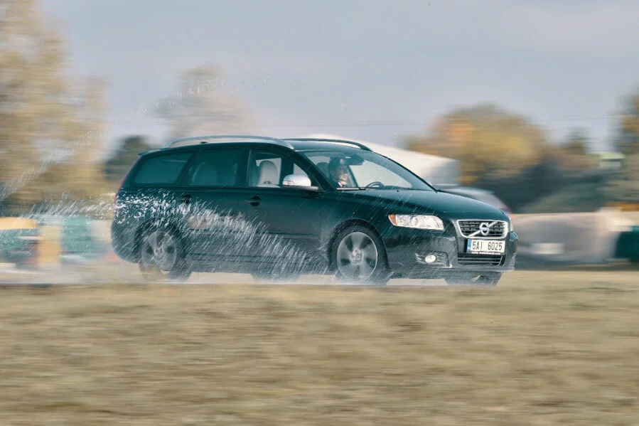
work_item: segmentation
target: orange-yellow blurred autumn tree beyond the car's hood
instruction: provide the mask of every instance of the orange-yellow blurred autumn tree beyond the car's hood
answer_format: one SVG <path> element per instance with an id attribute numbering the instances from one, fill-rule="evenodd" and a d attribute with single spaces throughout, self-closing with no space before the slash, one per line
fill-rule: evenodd
<path id="1" fill-rule="evenodd" d="M 460 160 L 464 184 L 515 176 L 539 163 L 546 144 L 544 129 L 490 104 L 453 110 L 430 134 L 407 139 L 414 151 Z"/>

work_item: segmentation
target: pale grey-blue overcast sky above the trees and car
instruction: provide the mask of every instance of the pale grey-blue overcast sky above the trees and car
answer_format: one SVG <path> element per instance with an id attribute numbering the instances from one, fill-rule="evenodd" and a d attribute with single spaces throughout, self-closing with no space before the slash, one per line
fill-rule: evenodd
<path id="1" fill-rule="evenodd" d="M 639 87 L 638 0 L 44 0 L 73 73 L 109 82 L 109 139 L 165 135 L 149 110 L 211 63 L 273 136 L 381 144 L 497 102 L 600 149 Z M 146 110 L 146 112 L 145 112 Z"/>

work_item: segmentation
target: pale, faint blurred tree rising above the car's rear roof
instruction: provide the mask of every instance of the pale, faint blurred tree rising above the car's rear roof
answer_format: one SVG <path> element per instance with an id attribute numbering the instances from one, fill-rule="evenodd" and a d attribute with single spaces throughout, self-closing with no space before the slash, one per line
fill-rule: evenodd
<path id="1" fill-rule="evenodd" d="M 164 98 L 157 112 L 168 122 L 171 138 L 243 134 L 251 127 L 245 106 L 211 65 L 186 70 L 176 95 Z"/>

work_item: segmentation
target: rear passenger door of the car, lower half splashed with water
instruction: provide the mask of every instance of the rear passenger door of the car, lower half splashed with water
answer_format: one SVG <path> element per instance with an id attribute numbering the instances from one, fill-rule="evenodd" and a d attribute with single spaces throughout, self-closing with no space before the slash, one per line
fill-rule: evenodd
<path id="1" fill-rule="evenodd" d="M 203 147 L 191 162 L 181 201 L 188 206 L 186 228 L 194 260 L 243 257 L 249 238 L 240 215 L 238 192 L 244 183 L 248 149 Z"/>

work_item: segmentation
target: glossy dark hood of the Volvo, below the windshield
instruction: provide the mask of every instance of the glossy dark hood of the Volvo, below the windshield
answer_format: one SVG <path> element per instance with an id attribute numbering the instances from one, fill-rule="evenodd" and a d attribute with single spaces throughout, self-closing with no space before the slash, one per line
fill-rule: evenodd
<path id="1" fill-rule="evenodd" d="M 366 198 L 368 201 L 380 206 L 388 206 L 390 204 L 409 208 L 410 210 L 424 211 L 425 213 L 436 212 L 446 215 L 506 218 L 505 213 L 495 206 L 451 193 L 375 189 L 356 191 L 353 195 L 358 198 Z"/>

